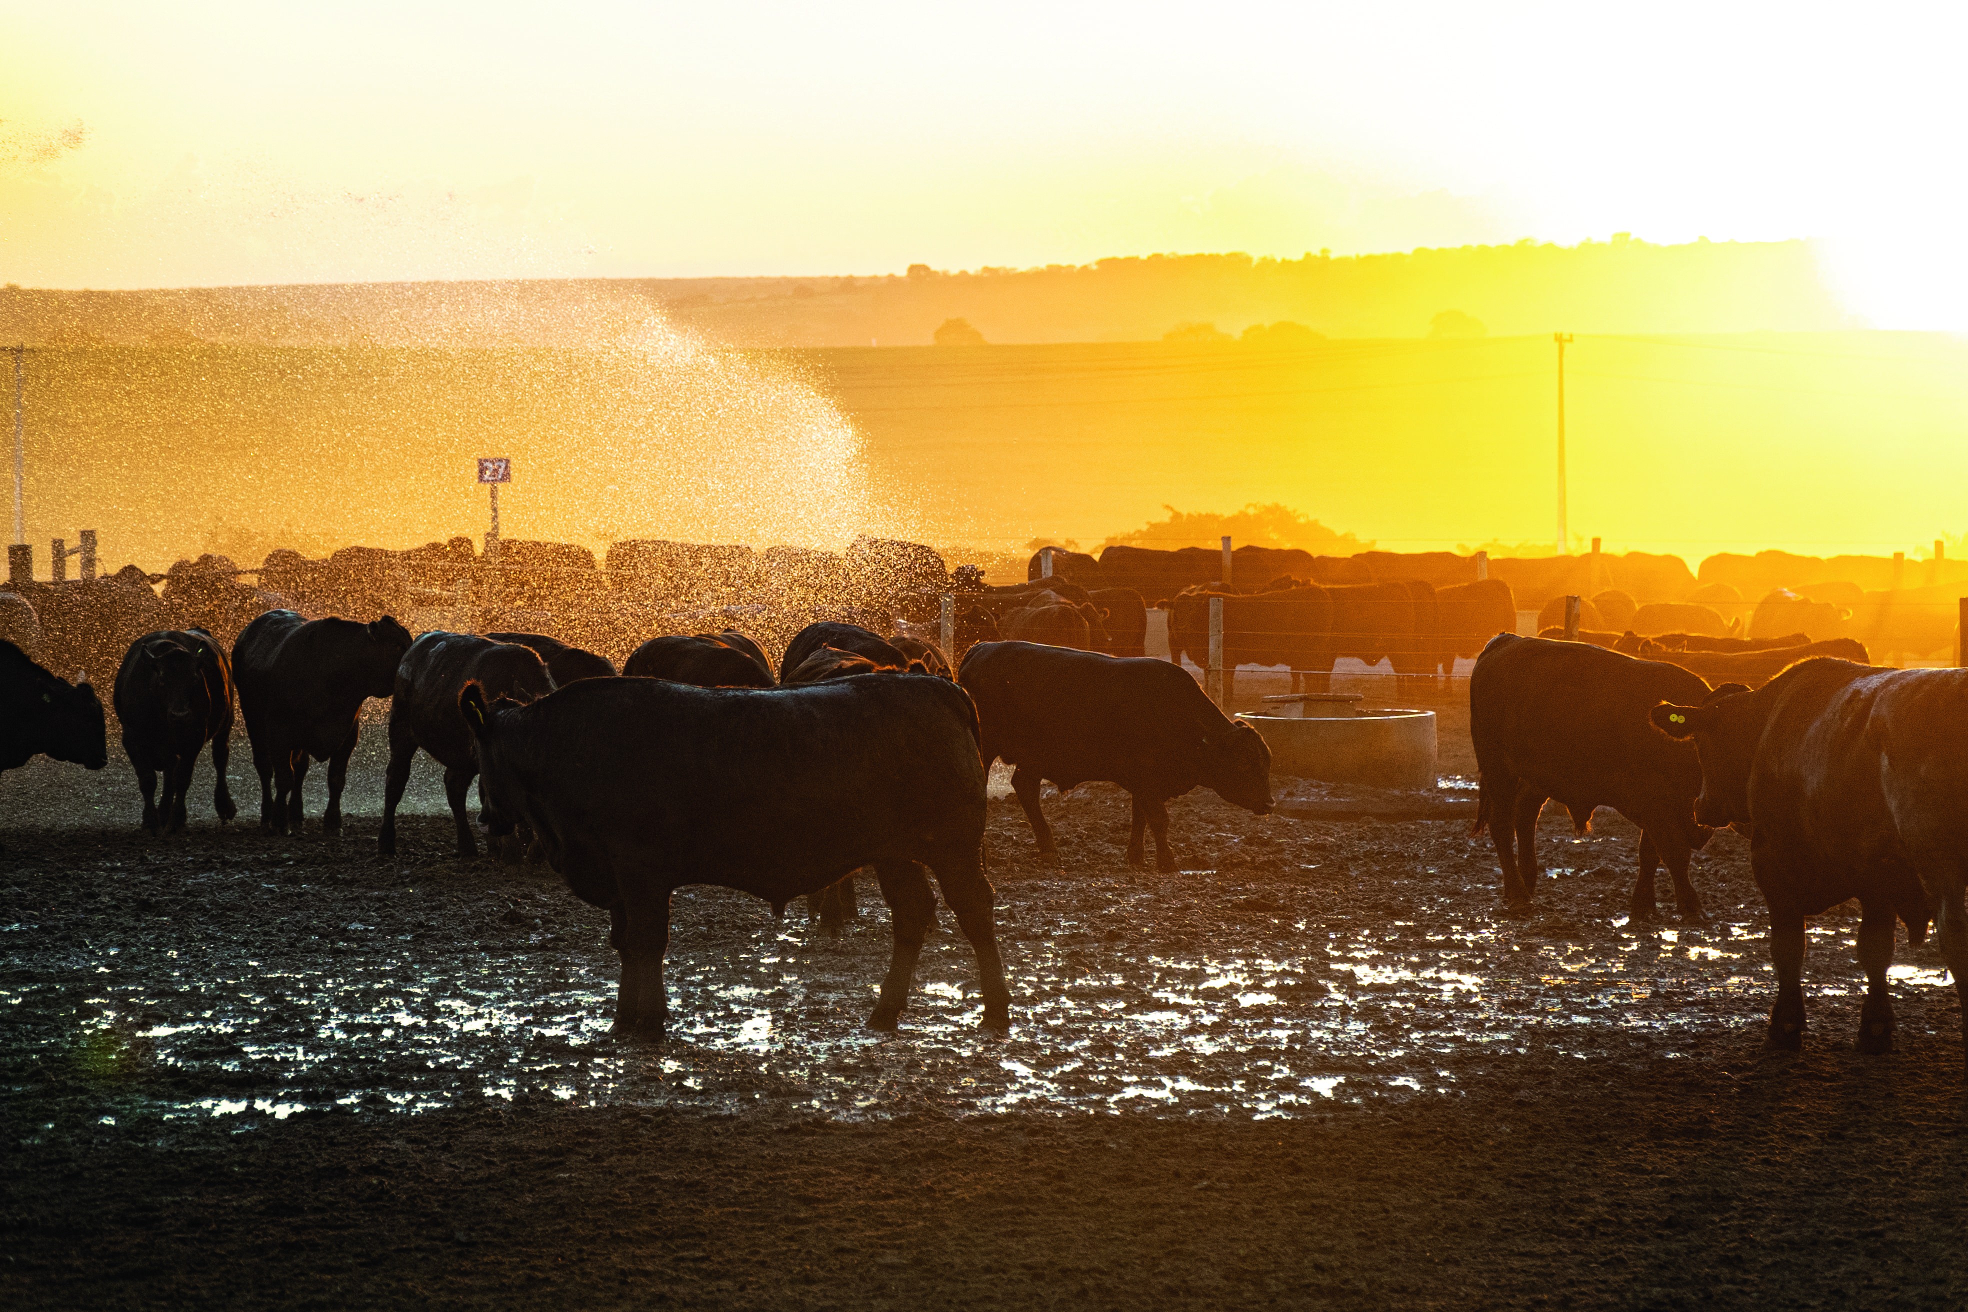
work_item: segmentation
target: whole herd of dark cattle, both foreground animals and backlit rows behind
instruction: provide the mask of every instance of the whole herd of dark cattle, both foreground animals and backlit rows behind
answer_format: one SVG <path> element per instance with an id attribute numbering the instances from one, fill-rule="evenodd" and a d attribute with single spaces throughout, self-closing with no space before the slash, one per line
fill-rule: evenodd
<path id="1" fill-rule="evenodd" d="M 382 854 L 396 850 L 396 810 L 421 749 L 443 767 L 457 850 L 474 856 L 466 795 L 476 779 L 478 820 L 496 842 L 537 854 L 579 897 L 610 911 L 624 1029 L 663 1031 L 675 887 L 742 889 L 775 909 L 811 895 L 823 923 L 838 928 L 852 909 L 852 875 L 864 867 L 874 869 L 893 924 L 893 958 L 870 1023 L 892 1027 L 903 1009 L 935 919 L 933 875 L 976 952 L 984 1023 L 1004 1029 L 1010 989 L 982 867 L 984 777 L 994 761 L 1012 767 L 1045 858 L 1057 858 L 1057 846 L 1039 806 L 1043 781 L 1063 791 L 1084 781 L 1128 789 L 1128 858 L 1145 862 L 1151 834 L 1163 871 L 1177 867 L 1169 799 L 1208 787 L 1256 814 L 1271 808 L 1261 736 L 1224 716 L 1181 665 L 1141 657 L 1147 600 L 1171 612 L 1179 659 L 1195 651 L 1197 612 L 1222 596 L 1224 645 L 1238 635 L 1236 659 L 1287 665 L 1295 679 L 1330 673 L 1340 655 L 1393 657 L 1405 675 L 1476 655 L 1468 685 L 1482 775 L 1476 832 L 1492 834 L 1511 903 L 1533 897 L 1535 828 L 1551 801 L 1580 832 L 1598 806 L 1641 830 L 1635 917 L 1653 915 L 1661 864 L 1679 911 L 1700 915 L 1691 854 L 1714 828 L 1736 826 L 1750 836 L 1771 915 L 1773 1043 L 1801 1043 L 1805 917 L 1848 899 L 1862 907 L 1870 984 L 1862 1048 L 1891 1046 L 1885 984 L 1895 919 L 1915 942 L 1937 926 L 1968 1005 L 1968 753 L 1960 749 L 1968 673 L 1872 667 L 1850 633 L 1805 624 L 1759 631 L 1783 627 L 1765 606 L 1795 620 L 1793 602 L 1824 604 L 1797 590 L 1763 596 L 1734 626 L 1687 596 L 1647 602 L 1679 627 L 1641 622 L 1655 629 L 1643 637 L 1633 624 L 1641 604 L 1620 612 L 1631 596 L 1600 588 L 1592 614 L 1612 612 L 1624 627 L 1576 624 L 1574 639 L 1563 639 L 1511 631 L 1515 567 L 1545 568 L 1543 580 L 1519 578 L 1535 600 L 1549 586 L 1620 582 L 1622 568 L 1631 582 L 1661 559 L 1498 561 L 1490 578 L 1458 580 L 1452 570 L 1476 568 L 1462 557 L 1368 553 L 1334 563 L 1246 547 L 1224 580 L 1218 553 L 1108 549 L 1094 561 L 1047 551 L 1025 584 L 992 588 L 974 572 L 949 574 L 935 553 L 909 543 L 779 559 L 618 543 L 606 574 L 642 582 L 602 582 L 583 594 L 527 574 L 549 568 L 539 557 L 551 553 L 516 547 L 525 545 L 508 543 L 512 557 L 492 567 L 468 543 L 421 555 L 337 553 L 325 563 L 274 553 L 258 586 L 240 582 L 230 565 L 193 563 L 165 576 L 161 594 L 136 570 L 0 594 L 0 618 L 16 622 L 14 641 L 0 641 L 0 771 L 35 753 L 89 769 L 108 759 L 92 686 L 49 673 L 37 651 L 57 651 L 69 665 L 75 645 L 98 643 L 116 624 L 175 620 L 128 637 L 114 661 L 96 659 L 96 669 L 116 667 L 112 710 L 148 832 L 183 830 L 207 744 L 215 812 L 234 818 L 226 785 L 234 708 L 260 779 L 260 826 L 295 830 L 301 785 L 311 763 L 325 761 L 323 830 L 338 832 L 360 710 L 388 698 Z M 760 570 L 775 568 L 791 572 L 762 584 Z M 1580 580 L 1578 568 L 1590 574 Z M 1204 570 L 1212 576 L 1199 578 Z M 1374 570 L 1435 570 L 1443 580 L 1360 576 Z M 488 624 L 492 631 L 431 627 L 413 637 L 392 614 L 309 618 L 266 604 L 348 602 L 360 616 L 407 600 L 415 616 L 435 610 L 429 594 L 441 594 L 447 576 L 459 610 L 476 606 L 490 620 L 549 616 L 555 624 L 543 627 L 555 631 Z M 488 590 L 498 594 L 490 604 Z M 1580 586 L 1572 596 L 1582 594 Z M 947 596 L 956 598 L 953 649 L 929 624 Z M 91 610 L 102 598 L 112 604 Z M 638 616 L 644 631 L 655 631 L 624 653 L 622 626 Z M 789 627 L 787 616 L 805 624 Z M 679 631 L 693 622 L 703 627 Z M 1480 627 L 1488 633 L 1476 641 Z M 581 631 L 606 635 L 614 653 L 569 641 Z M 777 663 L 768 647 L 779 649 Z"/>

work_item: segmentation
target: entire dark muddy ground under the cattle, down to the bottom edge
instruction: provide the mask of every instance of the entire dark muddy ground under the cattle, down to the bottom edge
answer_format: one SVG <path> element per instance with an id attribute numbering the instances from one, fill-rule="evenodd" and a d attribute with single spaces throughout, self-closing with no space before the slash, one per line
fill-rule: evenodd
<path id="1" fill-rule="evenodd" d="M 1630 924 L 1604 812 L 1513 917 L 1460 824 L 1195 795 L 1159 875 L 1110 789 L 1049 799 L 1061 869 L 998 801 L 1010 1039 L 947 913 L 874 1037 L 878 901 L 829 940 L 689 889 L 646 1044 L 606 917 L 455 862 L 427 761 L 376 856 L 380 738 L 340 838 L 319 771 L 295 838 L 220 830 L 209 769 L 169 840 L 120 761 L 0 779 L 0 1304 L 1968 1304 L 1954 991 L 1901 938 L 1899 1052 L 1858 1056 L 1830 915 L 1807 1050 L 1765 1050 L 1734 834 L 1706 921 Z"/>

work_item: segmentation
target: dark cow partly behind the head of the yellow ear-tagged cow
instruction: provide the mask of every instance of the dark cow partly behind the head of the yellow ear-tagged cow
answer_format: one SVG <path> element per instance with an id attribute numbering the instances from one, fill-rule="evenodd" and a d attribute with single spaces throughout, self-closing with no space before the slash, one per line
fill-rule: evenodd
<path id="1" fill-rule="evenodd" d="M 1675 879 L 1675 905 L 1698 917 L 1689 854 L 1708 844 L 1694 822 L 1702 767 L 1685 744 L 1647 728 L 1665 702 L 1700 702 L 1708 685 L 1677 665 L 1635 661 L 1588 643 L 1498 633 L 1470 673 L 1470 744 L 1476 747 L 1476 824 L 1490 830 L 1504 897 L 1529 905 L 1537 889 L 1537 816 L 1547 801 L 1580 834 L 1592 810 L 1612 806 L 1639 826 L 1635 919 L 1653 915 L 1653 871 Z"/>

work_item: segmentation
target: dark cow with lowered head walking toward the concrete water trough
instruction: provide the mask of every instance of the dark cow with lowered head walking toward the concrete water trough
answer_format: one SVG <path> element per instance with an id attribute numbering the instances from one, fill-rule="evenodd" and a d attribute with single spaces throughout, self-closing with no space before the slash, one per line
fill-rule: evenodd
<path id="1" fill-rule="evenodd" d="M 1145 860 L 1147 826 L 1163 871 L 1175 869 L 1171 797 L 1202 785 L 1260 816 L 1271 810 L 1271 749 L 1258 730 L 1224 718 L 1177 665 L 1039 643 L 980 643 L 964 657 L 958 683 L 978 704 L 984 761 L 1014 767 L 1012 789 L 1047 862 L 1059 860 L 1059 848 L 1039 810 L 1045 779 L 1063 791 L 1090 779 L 1128 789 L 1128 860 Z"/>

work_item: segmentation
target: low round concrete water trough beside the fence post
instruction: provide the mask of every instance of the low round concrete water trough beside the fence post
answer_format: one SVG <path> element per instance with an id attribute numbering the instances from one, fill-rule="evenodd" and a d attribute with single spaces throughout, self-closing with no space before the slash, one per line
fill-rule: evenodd
<path id="1" fill-rule="evenodd" d="M 1364 708 L 1354 692 L 1267 696 L 1240 714 L 1271 747 L 1271 773 L 1362 789 L 1435 789 L 1435 712 Z"/>

